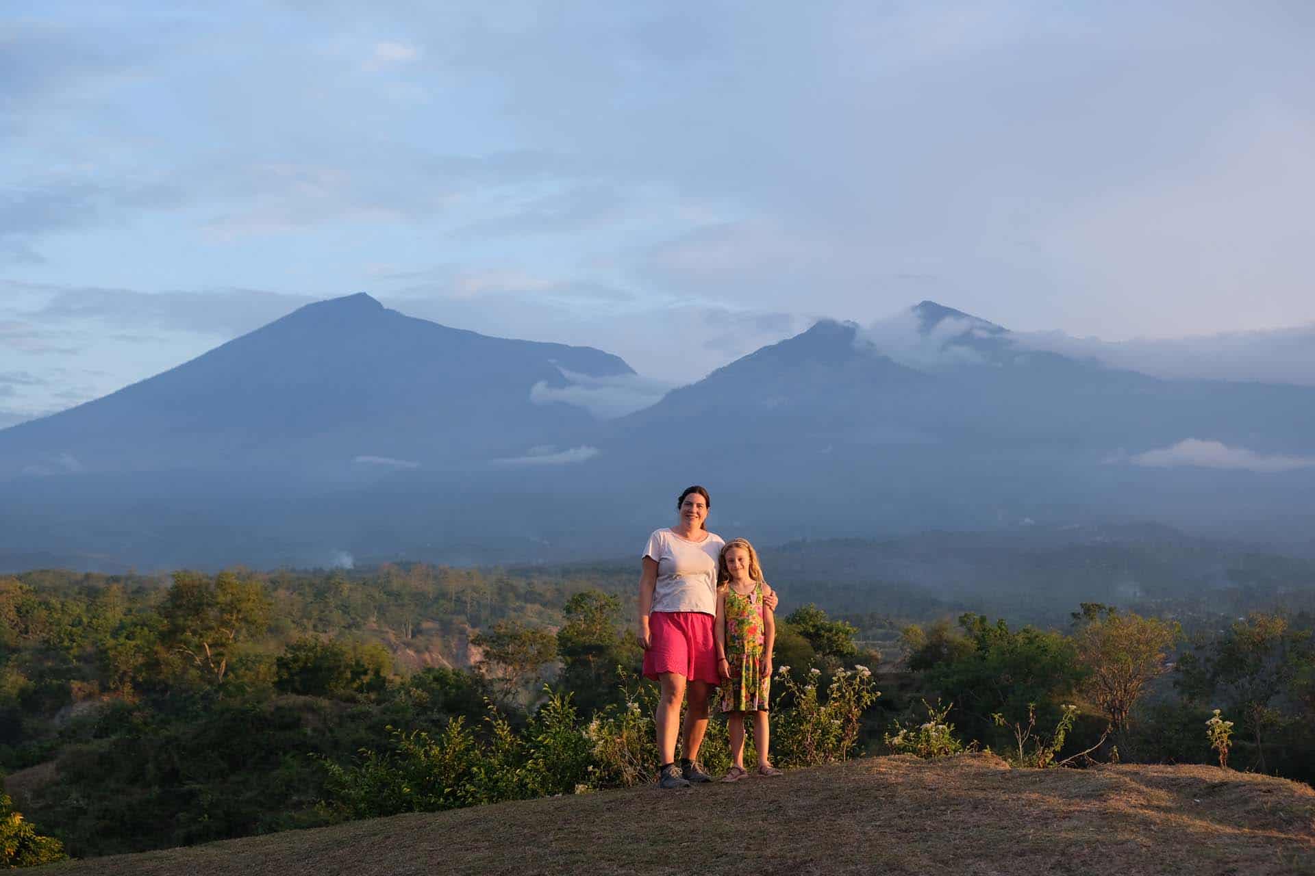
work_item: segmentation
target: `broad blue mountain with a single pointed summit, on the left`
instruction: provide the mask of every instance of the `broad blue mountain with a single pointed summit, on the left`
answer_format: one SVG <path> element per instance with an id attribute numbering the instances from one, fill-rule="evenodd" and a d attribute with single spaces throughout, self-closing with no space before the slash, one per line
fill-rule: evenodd
<path id="1" fill-rule="evenodd" d="M 57 471 L 460 468 L 552 445 L 593 422 L 537 403 L 565 373 L 634 374 L 586 347 L 487 338 L 367 294 L 300 310 L 168 372 L 0 431 L 0 477 Z"/>

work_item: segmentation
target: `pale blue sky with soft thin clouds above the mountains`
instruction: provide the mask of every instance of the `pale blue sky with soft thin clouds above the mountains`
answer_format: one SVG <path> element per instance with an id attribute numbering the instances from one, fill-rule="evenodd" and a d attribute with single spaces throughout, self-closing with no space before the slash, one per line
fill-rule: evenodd
<path id="1" fill-rule="evenodd" d="M 1148 339 L 1283 330 L 1302 370 L 1312 37 L 1304 0 L 11 0 L 0 427 L 356 292 L 672 383 L 922 299 L 1170 370 Z"/>

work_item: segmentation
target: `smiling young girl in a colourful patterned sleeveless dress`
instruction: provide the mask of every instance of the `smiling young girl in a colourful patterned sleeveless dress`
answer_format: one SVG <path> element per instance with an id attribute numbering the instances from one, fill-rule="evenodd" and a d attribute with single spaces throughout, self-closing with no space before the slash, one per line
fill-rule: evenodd
<path id="1" fill-rule="evenodd" d="M 744 770 L 744 713 L 753 713 L 757 772 L 778 776 L 767 759 L 767 696 L 772 682 L 776 619 L 763 602 L 767 582 L 757 552 L 744 538 L 726 542 L 717 561 L 717 657 L 722 676 L 722 712 L 727 713 L 734 766 L 722 781 L 739 781 Z"/>

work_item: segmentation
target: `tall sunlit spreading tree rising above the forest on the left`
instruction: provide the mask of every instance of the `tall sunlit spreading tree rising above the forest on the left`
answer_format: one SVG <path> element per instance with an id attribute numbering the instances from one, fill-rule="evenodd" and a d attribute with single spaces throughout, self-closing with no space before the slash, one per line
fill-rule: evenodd
<path id="1" fill-rule="evenodd" d="M 213 580 L 193 571 L 174 573 L 164 604 L 163 641 L 208 683 L 222 684 L 238 642 L 264 632 L 270 596 L 254 578 L 222 571 Z"/>

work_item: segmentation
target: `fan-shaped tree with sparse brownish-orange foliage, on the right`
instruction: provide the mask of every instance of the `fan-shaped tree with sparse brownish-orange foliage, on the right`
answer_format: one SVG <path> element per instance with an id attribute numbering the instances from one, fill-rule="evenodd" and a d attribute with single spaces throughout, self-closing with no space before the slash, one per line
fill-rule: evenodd
<path id="1" fill-rule="evenodd" d="M 1088 672 L 1084 691 L 1105 712 L 1111 732 L 1122 733 L 1145 686 L 1166 671 L 1182 629 L 1098 603 L 1082 603 L 1073 620 L 1078 661 Z"/>

